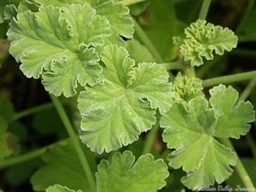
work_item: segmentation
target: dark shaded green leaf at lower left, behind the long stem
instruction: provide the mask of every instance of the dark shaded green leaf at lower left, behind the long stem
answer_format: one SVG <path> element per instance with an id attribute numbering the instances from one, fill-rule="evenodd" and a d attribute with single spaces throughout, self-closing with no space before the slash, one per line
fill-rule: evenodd
<path id="1" fill-rule="evenodd" d="M 93 166 L 92 154 L 86 152 L 90 158 L 92 170 Z M 89 192 L 90 187 L 86 180 L 86 175 L 81 168 L 81 163 L 77 157 L 76 151 L 70 142 L 62 145 L 55 145 L 47 154 L 43 156 L 46 163 L 38 169 L 31 177 L 31 184 L 35 191 L 45 191 L 48 186 L 61 184 L 71 189 L 81 189 L 84 192 Z"/>

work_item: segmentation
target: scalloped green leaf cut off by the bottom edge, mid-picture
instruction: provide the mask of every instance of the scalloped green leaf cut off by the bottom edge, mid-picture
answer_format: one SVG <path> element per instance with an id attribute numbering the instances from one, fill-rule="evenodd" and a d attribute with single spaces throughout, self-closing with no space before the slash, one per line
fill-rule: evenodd
<path id="1" fill-rule="evenodd" d="M 166 185 L 168 168 L 163 159 L 154 160 L 151 154 L 145 154 L 134 163 L 135 157 L 130 151 L 116 152 L 111 163 L 102 160 L 98 166 L 98 192 L 156 192 Z"/>

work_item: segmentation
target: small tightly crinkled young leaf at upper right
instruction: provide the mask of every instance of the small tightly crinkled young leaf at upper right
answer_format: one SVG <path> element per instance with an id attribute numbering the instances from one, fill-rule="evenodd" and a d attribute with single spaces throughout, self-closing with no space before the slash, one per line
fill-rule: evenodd
<path id="1" fill-rule="evenodd" d="M 204 64 L 203 59 L 212 60 L 214 53 L 223 55 L 225 50 L 230 52 L 237 45 L 237 36 L 233 31 L 205 20 L 192 23 L 184 33 L 185 38 L 180 41 L 180 54 L 191 66 L 200 66 Z"/>

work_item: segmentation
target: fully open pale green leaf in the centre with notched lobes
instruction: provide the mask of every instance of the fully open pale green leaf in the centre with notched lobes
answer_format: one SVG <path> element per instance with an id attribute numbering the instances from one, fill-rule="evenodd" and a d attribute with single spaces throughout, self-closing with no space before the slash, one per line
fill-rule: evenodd
<path id="1" fill-rule="evenodd" d="M 102 52 L 104 81 L 87 87 L 78 98 L 81 140 L 92 151 L 109 152 L 138 140 L 156 123 L 156 109 L 171 106 L 167 71 L 156 63 L 139 63 L 116 45 Z"/>

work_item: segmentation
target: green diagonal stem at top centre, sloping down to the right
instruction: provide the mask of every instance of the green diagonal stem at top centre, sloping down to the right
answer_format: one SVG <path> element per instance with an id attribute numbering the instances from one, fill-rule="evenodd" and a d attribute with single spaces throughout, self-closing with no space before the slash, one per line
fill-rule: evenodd
<path id="1" fill-rule="evenodd" d="M 145 32 L 143 31 L 143 29 L 140 27 L 140 25 L 135 19 L 133 19 L 133 22 L 134 22 L 134 28 L 135 28 L 136 34 L 140 38 L 141 42 L 148 48 L 148 50 L 151 52 L 153 57 L 155 57 L 157 63 L 163 63 L 163 59 L 161 55 L 157 51 L 156 47 L 154 47 L 154 45 L 148 38 L 147 34 L 145 34 Z"/>

